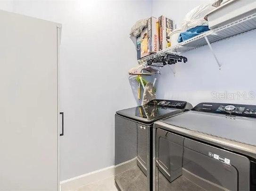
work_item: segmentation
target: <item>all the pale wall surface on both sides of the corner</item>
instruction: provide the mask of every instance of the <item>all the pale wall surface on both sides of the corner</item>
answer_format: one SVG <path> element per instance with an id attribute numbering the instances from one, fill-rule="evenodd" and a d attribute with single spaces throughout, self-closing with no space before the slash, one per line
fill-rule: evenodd
<path id="1" fill-rule="evenodd" d="M 137 101 L 137 86 L 131 87 L 127 74 L 137 63 L 129 38 L 132 24 L 149 15 L 166 15 L 181 26 L 185 14 L 206 1 L 14 1 L 17 13 L 63 24 L 60 103 L 65 112 L 65 136 L 61 137 L 61 180 L 114 164 L 114 113 Z M 0 8 L 11 10 L 12 3 L 0 1 Z M 189 61 L 172 66 L 175 77 L 168 67 L 162 68 L 158 98 L 196 105 L 224 101 L 213 100 L 213 91 L 256 92 L 255 35 L 256 31 L 213 45 L 223 64 L 221 71 L 207 46 L 184 53 Z M 255 104 L 255 99 L 235 102 Z"/>

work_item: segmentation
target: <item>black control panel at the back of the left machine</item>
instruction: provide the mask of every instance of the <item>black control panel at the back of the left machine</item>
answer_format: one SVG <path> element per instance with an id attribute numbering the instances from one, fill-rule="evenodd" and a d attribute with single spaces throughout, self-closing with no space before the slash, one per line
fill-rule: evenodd
<path id="1" fill-rule="evenodd" d="M 166 100 L 166 99 L 153 99 L 149 102 L 149 104 L 154 104 L 160 107 L 184 109 L 186 107 L 187 102 L 177 101 L 177 100 Z"/>

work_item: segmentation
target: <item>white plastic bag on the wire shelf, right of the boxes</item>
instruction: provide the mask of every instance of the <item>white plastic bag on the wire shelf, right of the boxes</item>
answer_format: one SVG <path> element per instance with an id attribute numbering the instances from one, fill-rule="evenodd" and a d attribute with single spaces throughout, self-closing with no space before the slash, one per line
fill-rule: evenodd
<path id="1" fill-rule="evenodd" d="M 202 4 L 196 8 L 193 8 L 184 18 L 182 22 L 182 31 L 187 31 L 188 29 L 194 28 L 196 26 L 208 25 L 208 22 L 204 17 L 211 11 L 215 9 L 212 3 Z"/>

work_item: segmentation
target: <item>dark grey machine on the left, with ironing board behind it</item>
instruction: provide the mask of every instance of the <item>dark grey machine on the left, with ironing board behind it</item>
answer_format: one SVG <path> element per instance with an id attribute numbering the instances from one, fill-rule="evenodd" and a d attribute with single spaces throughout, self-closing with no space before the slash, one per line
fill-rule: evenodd
<path id="1" fill-rule="evenodd" d="M 115 183 L 118 190 L 153 189 L 153 123 L 191 108 L 186 101 L 154 99 L 146 105 L 116 112 Z"/>

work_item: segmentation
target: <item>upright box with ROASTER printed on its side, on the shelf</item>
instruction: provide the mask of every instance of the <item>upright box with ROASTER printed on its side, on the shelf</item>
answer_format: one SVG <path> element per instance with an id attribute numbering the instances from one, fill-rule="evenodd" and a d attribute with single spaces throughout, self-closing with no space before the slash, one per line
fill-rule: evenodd
<path id="1" fill-rule="evenodd" d="M 148 20 L 148 51 L 149 53 L 156 53 L 159 51 L 158 38 L 158 19 L 150 17 Z"/>

